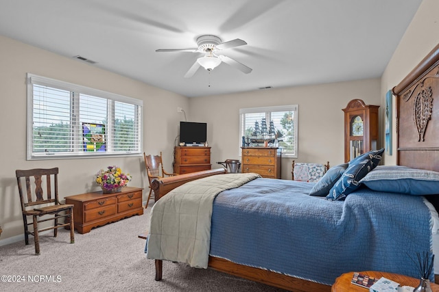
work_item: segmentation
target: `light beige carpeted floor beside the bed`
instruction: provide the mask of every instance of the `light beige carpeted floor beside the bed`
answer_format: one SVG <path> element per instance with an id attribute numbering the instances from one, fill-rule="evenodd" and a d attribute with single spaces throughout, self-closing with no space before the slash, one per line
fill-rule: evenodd
<path id="1" fill-rule="evenodd" d="M 150 209 L 81 235 L 69 243 L 69 230 L 40 237 L 39 256 L 33 237 L 0 247 L 0 291 L 283 291 L 213 269 L 163 262 L 163 280 L 155 281 L 154 261 L 143 253 Z M 21 280 L 21 282 L 18 282 Z"/>

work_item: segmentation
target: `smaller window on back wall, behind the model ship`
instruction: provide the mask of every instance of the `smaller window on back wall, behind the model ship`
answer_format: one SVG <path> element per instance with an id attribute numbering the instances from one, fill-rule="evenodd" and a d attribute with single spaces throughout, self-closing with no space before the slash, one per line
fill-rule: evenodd
<path id="1" fill-rule="evenodd" d="M 298 105 L 239 109 L 240 145 L 278 146 L 285 157 L 297 157 Z"/>

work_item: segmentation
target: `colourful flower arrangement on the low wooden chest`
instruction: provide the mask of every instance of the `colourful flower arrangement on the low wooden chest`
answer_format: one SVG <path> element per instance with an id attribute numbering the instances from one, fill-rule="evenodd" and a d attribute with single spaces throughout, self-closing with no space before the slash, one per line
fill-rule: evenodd
<path id="1" fill-rule="evenodd" d="M 125 187 L 131 178 L 130 174 L 124 174 L 118 166 L 112 165 L 108 166 L 107 170 L 99 170 L 95 181 L 102 187 L 102 191 L 118 191 Z"/>

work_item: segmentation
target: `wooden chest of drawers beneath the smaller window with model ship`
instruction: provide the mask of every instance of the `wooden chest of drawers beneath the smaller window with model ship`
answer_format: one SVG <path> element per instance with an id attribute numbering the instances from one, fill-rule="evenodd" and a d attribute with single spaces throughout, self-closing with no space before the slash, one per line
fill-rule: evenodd
<path id="1" fill-rule="evenodd" d="M 281 178 L 281 148 L 242 147 L 241 171 L 265 178 Z"/>

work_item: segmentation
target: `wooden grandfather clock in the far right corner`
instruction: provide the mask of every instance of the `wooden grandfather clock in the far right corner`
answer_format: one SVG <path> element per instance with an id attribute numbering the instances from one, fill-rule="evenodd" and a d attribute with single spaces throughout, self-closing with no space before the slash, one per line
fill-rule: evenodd
<path id="1" fill-rule="evenodd" d="M 344 111 L 344 161 L 377 149 L 379 105 L 353 99 Z"/>

